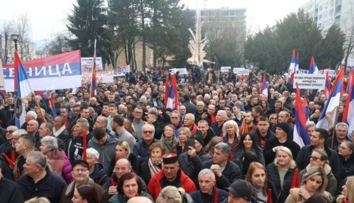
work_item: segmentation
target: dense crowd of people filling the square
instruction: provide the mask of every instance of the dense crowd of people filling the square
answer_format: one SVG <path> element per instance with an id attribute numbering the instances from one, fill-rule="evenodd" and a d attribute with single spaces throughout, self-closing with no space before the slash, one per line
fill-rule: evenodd
<path id="1" fill-rule="evenodd" d="M 311 144 L 293 141 L 296 93 L 284 75 L 248 78 L 194 67 L 179 76 L 130 73 L 112 83 L 0 99 L 0 202 L 354 203 L 354 132 L 316 128 L 324 91 L 302 91 Z M 176 95 L 177 96 L 177 95 Z M 49 102 L 52 98 L 54 106 Z"/>

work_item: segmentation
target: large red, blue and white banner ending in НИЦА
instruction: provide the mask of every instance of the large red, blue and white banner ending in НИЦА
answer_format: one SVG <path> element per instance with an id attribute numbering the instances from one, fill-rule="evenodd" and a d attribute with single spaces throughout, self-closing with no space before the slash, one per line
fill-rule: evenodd
<path id="1" fill-rule="evenodd" d="M 33 90 L 81 86 L 80 50 L 23 62 Z M 3 64 L 6 91 L 14 91 L 14 64 Z"/>

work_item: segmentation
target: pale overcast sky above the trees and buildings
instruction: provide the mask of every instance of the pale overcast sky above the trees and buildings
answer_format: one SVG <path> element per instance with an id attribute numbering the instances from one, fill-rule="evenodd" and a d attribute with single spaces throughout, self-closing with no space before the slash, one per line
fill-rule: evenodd
<path id="1" fill-rule="evenodd" d="M 208 0 L 206 7 L 204 0 L 200 1 L 200 9 L 204 8 L 246 8 L 247 26 L 256 31 L 263 29 L 267 24 L 272 26 L 276 20 L 290 12 L 296 12 L 309 0 Z M 7 6 L 0 7 L 0 23 L 17 19 L 26 14 L 30 20 L 30 39 L 37 44 L 44 44 L 54 33 L 66 29 L 65 22 L 68 14 L 72 13 L 72 3 L 76 0 L 12 0 Z M 197 7 L 197 0 L 181 0 L 190 9 Z M 187 30 L 186 30 L 187 31 Z"/>

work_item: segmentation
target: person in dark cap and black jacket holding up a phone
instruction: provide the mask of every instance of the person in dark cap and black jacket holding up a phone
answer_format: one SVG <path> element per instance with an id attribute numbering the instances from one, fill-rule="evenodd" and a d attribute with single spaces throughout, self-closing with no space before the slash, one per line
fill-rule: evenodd
<path id="1" fill-rule="evenodd" d="M 189 146 L 188 151 L 179 155 L 178 163 L 184 174 L 197 184 L 198 173 L 202 170 L 203 163 L 211 160 L 211 156 L 203 148 L 200 132 L 192 134 L 190 139 L 194 139 L 195 148 Z"/>

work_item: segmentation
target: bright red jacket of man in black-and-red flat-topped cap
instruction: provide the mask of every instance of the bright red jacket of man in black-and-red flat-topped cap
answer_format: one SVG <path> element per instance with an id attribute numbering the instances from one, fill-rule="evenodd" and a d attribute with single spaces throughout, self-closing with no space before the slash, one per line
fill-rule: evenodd
<path id="1" fill-rule="evenodd" d="M 158 197 L 158 193 L 162 190 L 160 181 L 164 178 L 164 170 L 161 170 L 155 174 L 149 184 L 147 185 L 147 192 L 152 196 L 153 199 Z M 186 176 L 181 170 L 181 177 L 179 179 L 181 183 L 181 188 L 183 188 L 188 194 L 197 191 L 197 187 L 188 176 Z"/>

